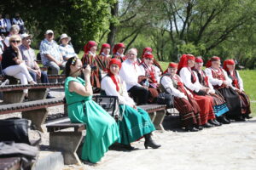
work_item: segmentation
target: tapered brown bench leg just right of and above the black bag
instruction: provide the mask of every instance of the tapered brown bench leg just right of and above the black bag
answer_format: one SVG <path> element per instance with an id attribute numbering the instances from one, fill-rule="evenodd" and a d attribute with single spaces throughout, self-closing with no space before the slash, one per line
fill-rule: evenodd
<path id="1" fill-rule="evenodd" d="M 48 108 L 44 109 L 38 109 L 38 110 L 33 110 L 33 111 L 22 111 L 22 118 L 26 118 L 32 121 L 32 125 L 35 125 L 36 128 L 44 133 L 44 129 L 42 125 L 45 122 L 45 119 L 48 114 Z"/>

